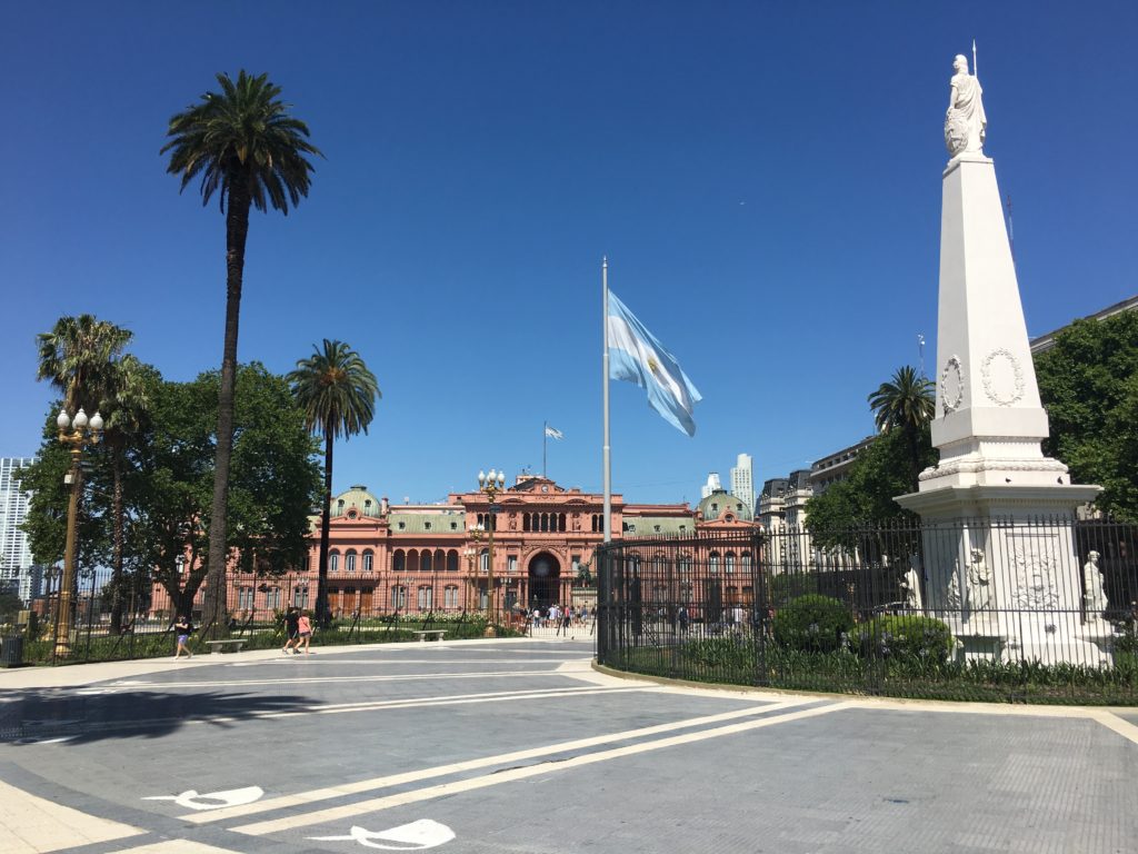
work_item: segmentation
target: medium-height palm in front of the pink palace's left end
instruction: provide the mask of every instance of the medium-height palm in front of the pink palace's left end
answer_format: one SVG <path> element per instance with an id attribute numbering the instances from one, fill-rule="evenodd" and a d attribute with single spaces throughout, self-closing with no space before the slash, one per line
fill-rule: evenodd
<path id="1" fill-rule="evenodd" d="M 292 393 L 304 410 L 305 422 L 313 433 L 324 437 L 324 501 L 320 518 L 320 569 L 316 583 L 316 618 L 328 623 L 328 532 L 332 504 L 332 441 L 341 435 L 349 438 L 368 425 L 376 413 L 376 399 L 381 397 L 376 375 L 363 359 L 344 342 L 328 340 L 321 351 L 296 363 L 288 375 Z"/>

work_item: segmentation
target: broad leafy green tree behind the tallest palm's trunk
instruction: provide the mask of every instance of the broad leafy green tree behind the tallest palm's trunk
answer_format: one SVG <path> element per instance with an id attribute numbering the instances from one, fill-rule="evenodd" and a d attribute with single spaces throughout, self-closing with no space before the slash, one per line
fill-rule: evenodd
<path id="1" fill-rule="evenodd" d="M 134 507 L 140 563 L 152 567 L 175 610 L 189 614 L 211 561 L 217 372 L 158 381 L 154 417 L 139 442 Z M 283 377 L 261 364 L 237 376 L 237 438 L 230 471 L 225 559 L 242 572 L 279 575 L 303 566 L 310 512 L 320 491 L 316 446 Z M 207 588 L 208 593 L 208 588 Z M 226 597 L 220 594 L 223 606 Z"/>

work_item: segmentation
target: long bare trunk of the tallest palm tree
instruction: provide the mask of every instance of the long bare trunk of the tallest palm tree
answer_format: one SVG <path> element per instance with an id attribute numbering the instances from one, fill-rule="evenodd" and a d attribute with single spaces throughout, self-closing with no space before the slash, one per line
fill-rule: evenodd
<path id="1" fill-rule="evenodd" d="M 226 631 L 225 565 L 229 560 L 225 522 L 229 511 L 229 466 L 233 455 L 233 394 L 237 386 L 237 331 L 241 314 L 245 241 L 249 233 L 249 191 L 239 176 L 229 195 L 225 217 L 225 343 L 217 395 L 217 446 L 214 457 L 213 512 L 209 517 L 209 570 L 203 602 L 203 637 Z"/>

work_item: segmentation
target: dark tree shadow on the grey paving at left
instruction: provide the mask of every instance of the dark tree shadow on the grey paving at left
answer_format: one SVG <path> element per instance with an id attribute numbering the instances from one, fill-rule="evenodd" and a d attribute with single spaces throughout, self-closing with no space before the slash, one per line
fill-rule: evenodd
<path id="1" fill-rule="evenodd" d="M 157 738 L 188 723 L 230 728 L 241 721 L 308 708 L 307 697 L 208 691 L 171 693 L 104 689 L 94 696 L 73 689 L 22 692 L 0 705 L 0 742 L 33 744 L 66 738 L 69 744 L 116 738 Z"/>

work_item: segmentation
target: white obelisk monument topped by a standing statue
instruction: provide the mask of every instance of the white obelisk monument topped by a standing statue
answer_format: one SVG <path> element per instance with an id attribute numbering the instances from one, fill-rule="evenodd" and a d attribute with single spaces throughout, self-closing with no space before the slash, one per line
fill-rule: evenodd
<path id="1" fill-rule="evenodd" d="M 983 153 L 982 90 L 963 55 L 954 69 L 932 422 L 940 462 L 921 474 L 916 493 L 897 501 L 926 527 L 951 523 L 953 536 L 925 536 L 924 569 L 929 608 L 948 615 L 958 638 L 974 639 L 986 655 L 1098 664 L 1102 654 L 1082 637 L 1072 525 L 1075 508 L 1102 490 L 1072 485 L 1066 466 L 1040 447 L 1047 412 L 996 167 Z M 967 586 L 968 567 L 991 576 L 992 600 L 975 613 L 958 592 L 954 599 Z"/>

